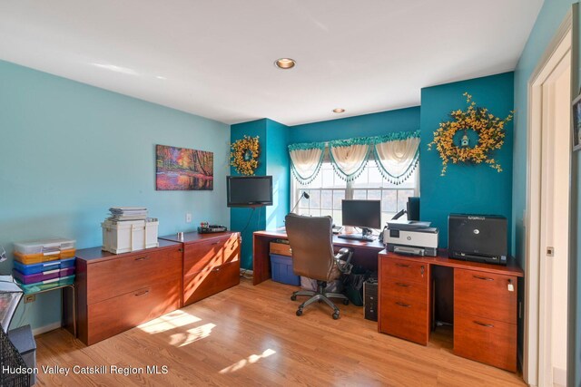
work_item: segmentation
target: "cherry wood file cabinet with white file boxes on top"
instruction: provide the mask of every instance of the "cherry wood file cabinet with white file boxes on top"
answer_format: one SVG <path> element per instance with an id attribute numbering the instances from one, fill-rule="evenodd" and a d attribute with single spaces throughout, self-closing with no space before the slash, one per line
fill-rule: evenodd
<path id="1" fill-rule="evenodd" d="M 182 305 L 182 245 L 125 254 L 76 251 L 79 339 L 92 345 Z"/>

